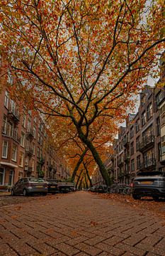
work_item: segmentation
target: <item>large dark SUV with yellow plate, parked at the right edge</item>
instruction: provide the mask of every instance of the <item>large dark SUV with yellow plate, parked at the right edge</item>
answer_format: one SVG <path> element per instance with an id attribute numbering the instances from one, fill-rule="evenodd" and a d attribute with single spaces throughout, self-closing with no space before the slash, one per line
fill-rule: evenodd
<path id="1" fill-rule="evenodd" d="M 152 196 L 157 201 L 165 198 L 165 173 L 162 171 L 140 172 L 132 182 L 132 197 Z"/>

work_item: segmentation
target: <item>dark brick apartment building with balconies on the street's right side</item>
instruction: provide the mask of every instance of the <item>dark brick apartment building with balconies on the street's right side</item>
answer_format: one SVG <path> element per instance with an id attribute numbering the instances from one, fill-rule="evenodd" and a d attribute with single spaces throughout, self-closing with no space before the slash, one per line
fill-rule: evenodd
<path id="1" fill-rule="evenodd" d="M 137 172 L 165 171 L 164 106 L 165 89 L 145 87 L 137 114 L 128 115 L 113 144 L 114 181 L 130 183 Z"/>

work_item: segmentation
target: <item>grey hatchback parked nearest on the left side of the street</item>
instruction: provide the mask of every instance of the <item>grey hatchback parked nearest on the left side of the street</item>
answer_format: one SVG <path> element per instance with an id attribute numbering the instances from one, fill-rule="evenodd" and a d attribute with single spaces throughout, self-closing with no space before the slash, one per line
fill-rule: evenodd
<path id="1" fill-rule="evenodd" d="M 40 193 L 47 195 L 47 183 L 42 178 L 26 177 L 20 178 L 11 188 L 11 195 L 23 196 Z"/>

